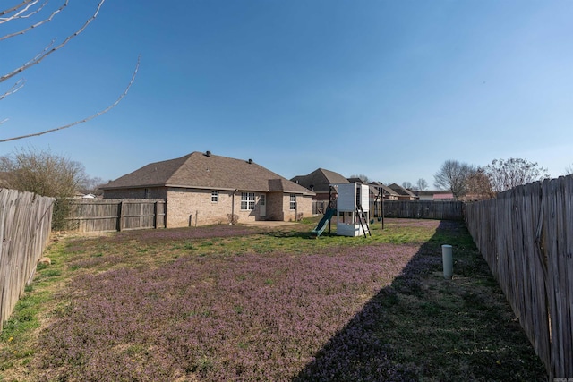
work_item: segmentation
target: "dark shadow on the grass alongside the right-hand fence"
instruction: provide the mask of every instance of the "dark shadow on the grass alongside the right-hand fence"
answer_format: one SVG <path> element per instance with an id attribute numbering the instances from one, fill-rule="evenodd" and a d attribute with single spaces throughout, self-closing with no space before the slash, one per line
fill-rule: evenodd
<path id="1" fill-rule="evenodd" d="M 445 280 L 441 244 L 454 250 Z M 543 381 L 545 369 L 463 222 L 442 221 L 391 285 L 294 379 Z"/>

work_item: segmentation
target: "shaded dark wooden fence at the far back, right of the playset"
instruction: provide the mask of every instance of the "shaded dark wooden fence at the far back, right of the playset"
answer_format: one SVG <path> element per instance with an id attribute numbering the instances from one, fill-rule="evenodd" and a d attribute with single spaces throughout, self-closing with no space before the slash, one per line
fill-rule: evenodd
<path id="1" fill-rule="evenodd" d="M 408 219 L 462 220 L 464 203 L 461 201 L 384 200 L 385 217 Z"/>

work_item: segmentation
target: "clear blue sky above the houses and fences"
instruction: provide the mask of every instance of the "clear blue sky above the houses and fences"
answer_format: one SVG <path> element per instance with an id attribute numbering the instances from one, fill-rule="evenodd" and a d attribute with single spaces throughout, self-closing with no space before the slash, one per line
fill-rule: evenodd
<path id="1" fill-rule="evenodd" d="M 0 74 L 97 4 L 72 0 L 49 25 L 0 41 Z M 107 0 L 0 102 L 0 139 L 105 108 L 141 55 L 128 96 L 89 123 L 0 143 L 0 155 L 49 149 L 105 180 L 205 150 L 286 178 L 322 167 L 432 187 L 448 159 L 509 157 L 557 177 L 573 164 L 571 20 L 569 0 Z M 0 24 L 0 35 L 16 29 Z"/>

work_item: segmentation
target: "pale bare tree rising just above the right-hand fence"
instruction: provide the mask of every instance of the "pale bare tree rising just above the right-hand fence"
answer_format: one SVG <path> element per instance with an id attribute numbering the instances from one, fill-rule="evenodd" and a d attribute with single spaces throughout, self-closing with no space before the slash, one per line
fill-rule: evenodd
<path id="1" fill-rule="evenodd" d="M 515 157 L 507 160 L 493 159 L 490 165 L 485 166 L 485 174 L 490 178 L 492 190 L 495 192 L 506 191 L 551 176 L 546 168 L 537 163 Z"/>

